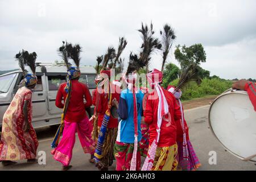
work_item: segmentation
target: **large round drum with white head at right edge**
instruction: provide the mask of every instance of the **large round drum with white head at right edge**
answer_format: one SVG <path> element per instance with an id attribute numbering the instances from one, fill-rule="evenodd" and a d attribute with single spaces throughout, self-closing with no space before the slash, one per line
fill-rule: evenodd
<path id="1" fill-rule="evenodd" d="M 256 112 L 247 92 L 226 90 L 209 109 L 209 126 L 234 156 L 256 163 Z"/>

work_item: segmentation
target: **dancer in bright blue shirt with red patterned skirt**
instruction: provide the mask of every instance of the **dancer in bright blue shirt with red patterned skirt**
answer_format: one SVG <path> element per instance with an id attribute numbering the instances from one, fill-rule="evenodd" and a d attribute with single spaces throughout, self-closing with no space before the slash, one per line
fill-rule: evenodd
<path id="1" fill-rule="evenodd" d="M 143 93 L 135 87 L 137 74 L 123 78 L 127 89 L 122 90 L 118 105 L 118 135 L 114 145 L 117 171 L 135 171 L 141 169 L 141 154 L 138 142 L 141 141 L 141 117 Z"/>

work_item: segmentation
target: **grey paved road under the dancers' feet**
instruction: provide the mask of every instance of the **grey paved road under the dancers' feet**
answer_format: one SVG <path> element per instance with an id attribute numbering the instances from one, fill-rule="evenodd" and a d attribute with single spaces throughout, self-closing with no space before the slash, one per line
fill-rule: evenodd
<path id="1" fill-rule="evenodd" d="M 209 106 L 200 107 L 185 111 L 185 118 L 189 126 L 189 137 L 195 148 L 196 154 L 202 166 L 199 170 L 256 170 L 253 163 L 243 162 L 236 158 L 228 151 L 222 148 L 221 144 L 213 137 L 208 126 L 208 110 Z M 27 164 L 26 160 L 22 160 L 13 166 L 3 167 L 0 165 L 0 170 L 60 170 L 61 165 L 52 159 L 51 140 L 55 134 L 56 129 L 45 127 L 36 130 L 39 138 L 38 151 L 46 152 L 46 165 Z M 209 152 L 216 151 L 217 164 L 210 165 L 208 160 L 210 158 Z M 93 164 L 89 163 L 89 154 L 84 154 L 79 143 L 78 137 L 73 150 L 73 158 L 71 170 L 97 170 Z M 142 163 L 144 158 L 142 158 Z M 115 163 L 109 170 L 114 170 Z"/>

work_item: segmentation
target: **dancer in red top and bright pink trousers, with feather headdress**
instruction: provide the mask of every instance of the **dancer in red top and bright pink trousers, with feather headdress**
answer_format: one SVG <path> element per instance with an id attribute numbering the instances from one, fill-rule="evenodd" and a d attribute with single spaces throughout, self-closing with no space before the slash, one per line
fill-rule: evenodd
<path id="1" fill-rule="evenodd" d="M 92 97 L 88 87 L 79 82 L 79 53 L 81 48 L 79 45 L 66 43 L 60 47 L 60 53 L 68 68 L 68 81 L 61 84 L 56 96 L 55 105 L 63 108 L 63 116 L 61 118 L 61 126 L 57 131 L 55 139 L 53 139 L 52 150 L 53 158 L 63 164 L 63 171 L 67 171 L 72 166 L 69 165 L 72 159 L 72 150 L 75 145 L 76 132 L 78 133 L 79 140 L 84 150 L 84 153 L 93 154 L 93 140 L 92 140 L 92 124 L 85 113 L 85 109 L 92 105 Z M 75 55 L 73 55 L 75 54 Z M 71 55 L 76 63 L 76 67 L 71 67 L 68 63 L 67 55 Z M 86 104 L 84 104 L 84 98 Z M 62 103 L 64 99 L 64 104 Z M 61 130 L 64 125 L 63 138 L 60 143 Z"/>

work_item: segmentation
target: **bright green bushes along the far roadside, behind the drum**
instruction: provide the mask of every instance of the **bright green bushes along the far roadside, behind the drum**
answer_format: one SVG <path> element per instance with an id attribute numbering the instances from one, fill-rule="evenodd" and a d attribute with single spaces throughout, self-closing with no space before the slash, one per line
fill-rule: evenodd
<path id="1" fill-rule="evenodd" d="M 176 79 L 170 82 L 170 85 L 176 86 L 178 81 L 179 80 Z M 192 81 L 189 82 L 185 88 L 183 88 L 181 99 L 189 100 L 192 98 L 199 98 L 209 95 L 218 95 L 231 88 L 231 86 L 231 81 L 220 78 L 204 78 L 200 86 L 198 86 L 196 82 Z"/>

